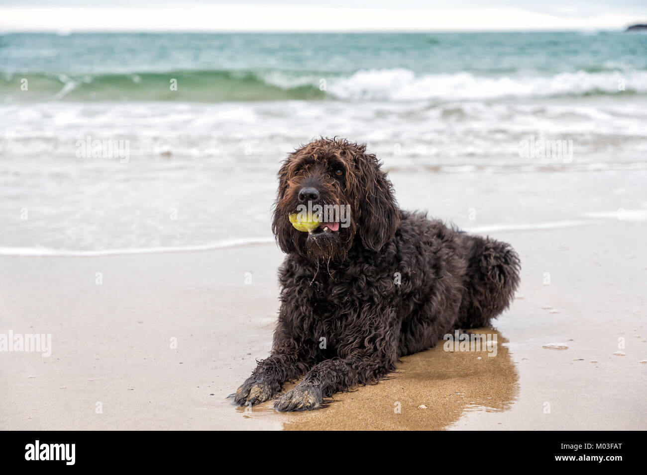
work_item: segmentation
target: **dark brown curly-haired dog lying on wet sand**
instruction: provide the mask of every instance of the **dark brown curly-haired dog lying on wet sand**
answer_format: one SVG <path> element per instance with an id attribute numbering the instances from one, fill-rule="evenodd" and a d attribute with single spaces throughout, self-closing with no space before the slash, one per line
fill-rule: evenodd
<path id="1" fill-rule="evenodd" d="M 287 254 L 278 326 L 272 353 L 233 395 L 237 404 L 267 401 L 303 376 L 274 408 L 320 408 L 455 328 L 488 325 L 512 301 L 514 249 L 399 209 L 366 145 L 315 140 L 290 154 L 278 176 L 272 230 Z M 349 226 L 298 231 L 289 215 L 307 202 L 349 205 Z"/>

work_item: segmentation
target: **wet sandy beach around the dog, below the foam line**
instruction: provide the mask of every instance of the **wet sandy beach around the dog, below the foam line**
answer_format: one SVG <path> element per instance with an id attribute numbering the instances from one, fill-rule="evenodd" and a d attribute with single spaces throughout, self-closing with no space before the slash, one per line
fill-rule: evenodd
<path id="1" fill-rule="evenodd" d="M 1 256 L 0 333 L 52 343 L 49 357 L 0 354 L 0 428 L 646 429 L 647 224 L 490 235 L 522 262 L 510 310 L 472 330 L 497 335 L 496 357 L 433 348 L 298 414 L 226 399 L 270 349 L 274 244 Z"/>

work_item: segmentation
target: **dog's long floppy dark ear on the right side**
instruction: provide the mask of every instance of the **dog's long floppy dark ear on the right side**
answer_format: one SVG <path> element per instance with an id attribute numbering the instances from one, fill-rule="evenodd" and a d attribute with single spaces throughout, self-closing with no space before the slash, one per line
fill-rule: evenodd
<path id="1" fill-rule="evenodd" d="M 356 157 L 358 234 L 367 249 L 379 251 L 400 226 L 400 209 L 393 197 L 393 185 L 373 154 Z"/>

